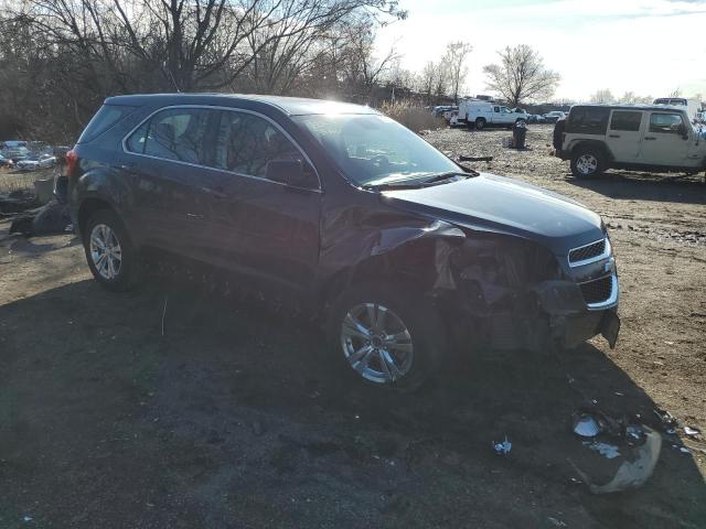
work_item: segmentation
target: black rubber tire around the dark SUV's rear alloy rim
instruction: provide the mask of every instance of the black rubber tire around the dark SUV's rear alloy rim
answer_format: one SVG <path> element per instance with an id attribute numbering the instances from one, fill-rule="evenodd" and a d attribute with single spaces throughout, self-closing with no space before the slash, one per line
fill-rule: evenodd
<path id="1" fill-rule="evenodd" d="M 114 234 L 115 240 L 119 245 L 120 250 L 120 263 L 119 267 L 114 267 L 114 277 L 106 277 L 101 273 L 95 262 L 92 255 L 92 234 L 94 229 L 99 226 L 106 226 Z M 135 248 L 130 236 L 128 235 L 125 225 L 120 220 L 120 217 L 111 209 L 99 209 L 95 212 L 83 229 L 84 250 L 86 253 L 86 261 L 93 277 L 103 287 L 114 292 L 125 292 L 133 289 L 142 277 L 142 267 L 140 255 Z"/>

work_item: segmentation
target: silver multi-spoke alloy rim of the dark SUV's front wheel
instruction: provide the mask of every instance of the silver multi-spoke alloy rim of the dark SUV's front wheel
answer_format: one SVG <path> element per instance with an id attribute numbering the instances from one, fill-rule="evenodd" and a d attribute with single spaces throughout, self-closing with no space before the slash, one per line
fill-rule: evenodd
<path id="1" fill-rule="evenodd" d="M 351 368 L 375 384 L 398 381 L 414 361 L 409 330 L 378 303 L 361 303 L 347 312 L 341 324 L 341 346 Z"/>

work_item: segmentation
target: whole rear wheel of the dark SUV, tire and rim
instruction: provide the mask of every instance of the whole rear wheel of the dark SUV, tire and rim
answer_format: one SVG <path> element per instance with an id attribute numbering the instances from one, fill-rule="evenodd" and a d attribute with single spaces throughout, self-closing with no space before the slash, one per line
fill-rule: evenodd
<path id="1" fill-rule="evenodd" d="M 84 249 L 94 278 L 113 291 L 130 290 L 140 278 L 140 258 L 118 215 L 94 213 L 85 225 Z"/>

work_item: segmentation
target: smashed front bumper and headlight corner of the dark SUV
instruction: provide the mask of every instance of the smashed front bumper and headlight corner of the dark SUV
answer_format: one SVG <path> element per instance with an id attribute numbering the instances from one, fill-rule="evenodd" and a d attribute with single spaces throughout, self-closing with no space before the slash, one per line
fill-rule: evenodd
<path id="1" fill-rule="evenodd" d="M 605 253 L 577 266 L 539 247 L 507 242 L 461 249 L 469 257 L 454 276 L 463 320 L 473 322 L 469 335 L 495 349 L 573 348 L 597 335 L 616 346 L 620 284 L 608 239 Z"/>

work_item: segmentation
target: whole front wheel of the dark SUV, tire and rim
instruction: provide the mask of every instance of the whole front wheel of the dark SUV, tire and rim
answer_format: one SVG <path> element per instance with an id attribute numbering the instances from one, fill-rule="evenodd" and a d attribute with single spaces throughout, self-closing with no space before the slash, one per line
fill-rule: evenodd
<path id="1" fill-rule="evenodd" d="M 436 309 L 387 284 L 357 285 L 339 298 L 328 334 L 341 369 L 377 387 L 417 389 L 446 352 Z"/>

